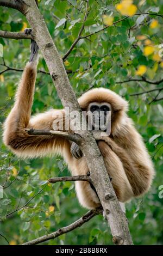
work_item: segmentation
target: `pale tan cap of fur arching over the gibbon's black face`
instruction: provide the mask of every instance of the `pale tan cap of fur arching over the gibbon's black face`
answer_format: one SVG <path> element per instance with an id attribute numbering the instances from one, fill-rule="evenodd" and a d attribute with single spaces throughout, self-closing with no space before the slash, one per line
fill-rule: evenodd
<path id="1" fill-rule="evenodd" d="M 86 109 L 91 102 L 108 102 L 114 112 L 127 112 L 128 102 L 115 92 L 105 88 L 95 88 L 84 93 L 78 99 L 79 105 L 82 109 Z"/>

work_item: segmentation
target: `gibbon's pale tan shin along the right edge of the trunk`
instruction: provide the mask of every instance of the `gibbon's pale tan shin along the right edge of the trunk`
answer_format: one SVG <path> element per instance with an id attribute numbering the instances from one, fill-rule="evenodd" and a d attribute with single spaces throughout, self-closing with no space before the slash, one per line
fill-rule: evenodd
<path id="1" fill-rule="evenodd" d="M 120 202 L 126 202 L 134 196 L 134 193 L 124 171 L 123 164 L 106 142 L 98 141 L 97 144 L 103 156 L 108 174 L 112 178 L 111 184 L 114 187 L 116 196 Z"/>

